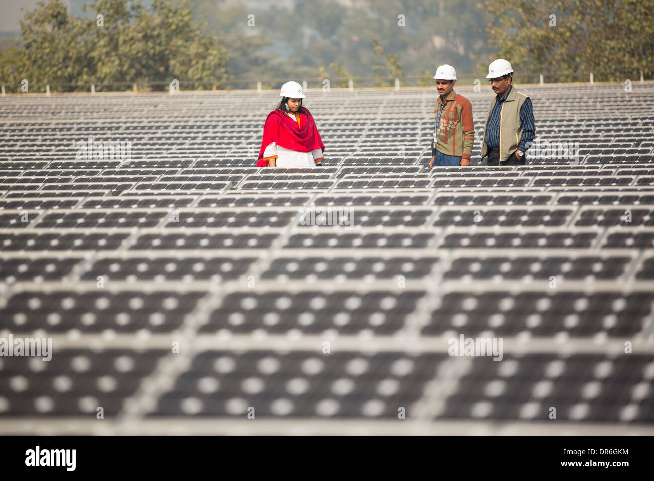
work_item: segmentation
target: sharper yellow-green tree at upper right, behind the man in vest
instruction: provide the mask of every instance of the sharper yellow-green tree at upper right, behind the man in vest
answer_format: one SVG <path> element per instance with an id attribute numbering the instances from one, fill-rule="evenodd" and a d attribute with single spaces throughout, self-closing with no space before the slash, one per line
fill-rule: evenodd
<path id="1" fill-rule="evenodd" d="M 517 72 L 603 80 L 654 73 L 654 0 L 492 0 L 480 7 L 498 19 L 489 24 L 489 45 Z"/>

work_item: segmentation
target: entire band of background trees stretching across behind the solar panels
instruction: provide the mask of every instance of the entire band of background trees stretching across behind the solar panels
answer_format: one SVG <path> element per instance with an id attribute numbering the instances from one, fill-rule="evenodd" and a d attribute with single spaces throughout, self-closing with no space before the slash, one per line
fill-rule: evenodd
<path id="1" fill-rule="evenodd" d="M 517 75 L 557 77 L 548 80 L 654 76 L 654 0 L 294 0 L 292 8 L 275 1 L 89 1 L 84 16 L 71 15 L 65 0 L 28 12 L 21 45 L 3 44 L 0 82 L 116 88 L 230 80 L 252 88 L 238 82 L 248 79 L 276 88 L 283 79 L 373 77 L 381 85 L 406 75 L 431 85 L 436 65 L 454 65 L 462 77 L 485 73 L 498 57 Z"/>

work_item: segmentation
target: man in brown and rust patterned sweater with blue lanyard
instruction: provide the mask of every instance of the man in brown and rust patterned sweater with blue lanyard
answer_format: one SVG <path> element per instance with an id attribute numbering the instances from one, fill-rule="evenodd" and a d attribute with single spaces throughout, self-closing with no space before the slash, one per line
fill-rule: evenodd
<path id="1" fill-rule="evenodd" d="M 470 100 L 454 91 L 456 72 L 451 65 L 438 67 L 434 80 L 440 95 L 434 109 L 436 123 L 429 166 L 469 166 L 475 140 Z"/>

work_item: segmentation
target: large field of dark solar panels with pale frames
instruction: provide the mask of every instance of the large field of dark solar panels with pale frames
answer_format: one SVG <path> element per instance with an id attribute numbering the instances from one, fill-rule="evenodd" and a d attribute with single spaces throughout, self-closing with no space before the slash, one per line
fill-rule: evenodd
<path id="1" fill-rule="evenodd" d="M 274 93 L 0 98 L 0 337 L 54 351 L 0 432 L 654 434 L 654 84 L 520 90 L 576 158 L 480 164 L 488 88 L 434 169 L 432 89 L 310 92 L 292 169 Z"/>

